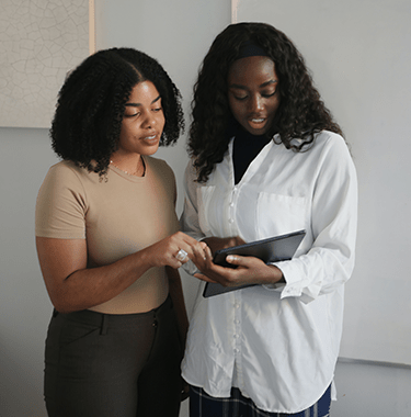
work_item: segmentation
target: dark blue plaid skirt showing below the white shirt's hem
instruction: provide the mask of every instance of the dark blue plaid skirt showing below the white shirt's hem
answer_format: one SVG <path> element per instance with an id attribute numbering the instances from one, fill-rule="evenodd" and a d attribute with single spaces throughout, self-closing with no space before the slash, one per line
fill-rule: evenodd
<path id="1" fill-rule="evenodd" d="M 329 417 L 330 406 L 331 385 L 316 404 L 295 414 L 263 412 L 238 388 L 231 388 L 229 398 L 212 397 L 195 386 L 190 388 L 190 417 Z"/>

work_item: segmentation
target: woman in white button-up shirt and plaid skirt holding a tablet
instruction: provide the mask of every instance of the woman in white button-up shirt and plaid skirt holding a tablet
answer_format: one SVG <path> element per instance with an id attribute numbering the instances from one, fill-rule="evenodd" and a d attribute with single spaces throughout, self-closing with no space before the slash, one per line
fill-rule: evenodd
<path id="1" fill-rule="evenodd" d="M 183 230 L 210 250 L 203 281 L 258 284 L 198 295 L 183 376 L 191 416 L 328 416 L 354 267 L 356 173 L 304 58 L 279 31 L 229 25 L 194 90 Z M 229 246 L 306 229 L 293 260 L 228 257 Z"/>

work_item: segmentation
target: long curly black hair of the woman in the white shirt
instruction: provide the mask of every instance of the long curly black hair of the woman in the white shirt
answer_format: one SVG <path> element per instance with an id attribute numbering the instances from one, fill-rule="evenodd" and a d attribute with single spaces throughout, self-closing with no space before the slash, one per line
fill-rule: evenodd
<path id="1" fill-rule="evenodd" d="M 313 87 L 304 57 L 283 32 L 266 23 L 230 24 L 213 42 L 194 86 L 187 149 L 199 182 L 206 182 L 222 160 L 231 137 L 229 125 L 237 123 L 229 108 L 227 78 L 242 45 L 249 42 L 275 64 L 281 98 L 275 127 L 288 149 L 308 150 L 322 129 L 343 135 Z M 295 145 L 294 138 L 302 142 Z"/>

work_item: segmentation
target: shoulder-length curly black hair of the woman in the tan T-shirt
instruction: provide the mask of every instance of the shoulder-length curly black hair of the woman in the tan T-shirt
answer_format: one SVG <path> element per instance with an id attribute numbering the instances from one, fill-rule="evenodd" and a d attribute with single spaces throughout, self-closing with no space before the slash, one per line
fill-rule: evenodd
<path id="1" fill-rule="evenodd" d="M 55 153 L 106 176 L 110 157 L 118 146 L 125 104 L 142 81 L 151 81 L 161 95 L 165 125 L 160 146 L 174 144 L 184 129 L 179 89 L 145 53 L 111 48 L 88 57 L 61 87 L 49 132 Z"/>

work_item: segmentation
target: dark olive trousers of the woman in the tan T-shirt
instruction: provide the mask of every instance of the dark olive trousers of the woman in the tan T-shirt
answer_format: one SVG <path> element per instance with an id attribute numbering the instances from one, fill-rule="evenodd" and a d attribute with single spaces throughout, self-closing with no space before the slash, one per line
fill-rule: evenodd
<path id="1" fill-rule="evenodd" d="M 129 315 L 55 312 L 45 352 L 49 417 L 178 417 L 183 351 L 172 302 Z"/>

